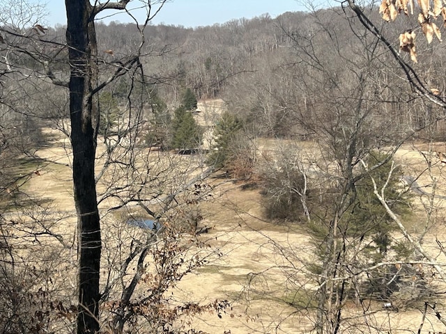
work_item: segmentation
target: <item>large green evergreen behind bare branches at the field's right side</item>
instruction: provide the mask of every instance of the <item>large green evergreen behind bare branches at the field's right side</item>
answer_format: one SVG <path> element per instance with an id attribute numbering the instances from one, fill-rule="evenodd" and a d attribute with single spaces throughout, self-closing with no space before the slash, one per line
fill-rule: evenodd
<path id="1" fill-rule="evenodd" d="M 387 159 L 386 154 L 372 151 L 365 162 L 370 168 L 385 159 Z M 389 177 L 390 168 L 392 168 L 392 161 L 387 161 L 355 184 L 356 194 L 353 209 L 343 219 L 342 225 L 345 227 L 344 231 L 347 236 L 373 241 L 367 246 L 367 249 L 364 249 L 368 250 L 369 263 L 367 265 L 388 260 L 390 249 L 395 250 L 395 255 L 399 257 L 397 250 L 399 245 L 392 244 L 392 232 L 397 228 L 385 207 L 376 198 L 371 177 L 374 178 L 378 189 L 387 184 L 384 196 L 395 214 L 399 216 L 410 214 L 410 195 L 401 192 L 400 187 L 401 168 L 398 166 L 394 168 Z M 362 168 L 362 173 L 364 172 L 365 170 Z M 368 294 L 378 296 L 380 299 L 388 299 L 393 292 L 400 288 L 400 285 L 401 277 L 396 275 L 394 268 L 386 266 L 370 272 L 367 276 L 367 283 L 365 283 Z"/>

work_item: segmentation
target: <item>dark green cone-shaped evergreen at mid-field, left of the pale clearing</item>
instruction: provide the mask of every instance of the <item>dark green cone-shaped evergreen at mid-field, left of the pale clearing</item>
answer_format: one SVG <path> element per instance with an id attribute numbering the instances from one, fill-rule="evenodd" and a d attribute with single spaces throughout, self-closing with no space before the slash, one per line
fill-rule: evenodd
<path id="1" fill-rule="evenodd" d="M 190 150 L 199 147 L 201 143 L 202 131 L 194 120 L 192 113 L 179 106 L 172 120 L 172 141 L 171 148 L 179 150 Z"/>

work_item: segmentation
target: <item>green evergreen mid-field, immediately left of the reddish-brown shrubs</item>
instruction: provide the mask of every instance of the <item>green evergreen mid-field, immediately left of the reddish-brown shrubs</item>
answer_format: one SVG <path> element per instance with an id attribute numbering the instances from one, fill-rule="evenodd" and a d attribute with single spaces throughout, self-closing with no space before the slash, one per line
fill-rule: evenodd
<path id="1" fill-rule="evenodd" d="M 242 122 L 237 116 L 225 111 L 222 118 L 215 125 L 214 137 L 215 142 L 211 146 L 212 152 L 208 156 L 207 163 L 214 168 L 222 168 L 226 166 L 232 157 L 233 148 L 231 143 L 236 139 L 240 132 Z"/>

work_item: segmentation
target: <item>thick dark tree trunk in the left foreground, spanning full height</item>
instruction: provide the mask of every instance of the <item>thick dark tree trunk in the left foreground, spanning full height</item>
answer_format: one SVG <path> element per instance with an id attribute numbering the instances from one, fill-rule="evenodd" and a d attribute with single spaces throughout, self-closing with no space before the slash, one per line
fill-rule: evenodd
<path id="1" fill-rule="evenodd" d="M 79 305 L 77 333 L 99 331 L 100 219 L 95 189 L 97 113 L 91 96 L 95 80 L 95 35 L 89 1 L 66 0 L 70 60 L 70 120 L 73 183 L 78 231 Z"/>

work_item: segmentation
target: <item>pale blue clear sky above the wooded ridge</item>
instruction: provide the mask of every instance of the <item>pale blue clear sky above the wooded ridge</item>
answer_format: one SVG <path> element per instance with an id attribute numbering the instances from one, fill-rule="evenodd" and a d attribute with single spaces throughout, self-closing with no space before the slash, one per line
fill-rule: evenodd
<path id="1" fill-rule="evenodd" d="M 66 24 L 65 1 L 43 0 L 47 3 L 49 15 L 45 24 Z M 140 3 L 131 1 L 130 3 Z M 160 13 L 153 19 L 153 24 L 174 24 L 185 27 L 208 26 L 215 23 L 222 24 L 231 19 L 245 17 L 251 19 L 264 13 L 276 17 L 282 13 L 305 10 L 299 0 L 169 0 L 164 4 Z M 104 12 L 105 15 L 112 14 Z M 138 19 L 143 19 L 146 10 L 133 10 Z M 105 22 L 130 22 L 127 15 L 108 16 Z"/>

